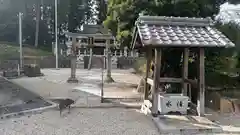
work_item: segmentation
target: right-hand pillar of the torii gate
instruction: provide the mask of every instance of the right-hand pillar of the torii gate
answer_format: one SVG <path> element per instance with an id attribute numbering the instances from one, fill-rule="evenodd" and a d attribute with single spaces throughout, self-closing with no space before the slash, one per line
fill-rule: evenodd
<path id="1" fill-rule="evenodd" d="M 112 59 L 111 59 L 111 51 L 110 51 L 110 39 L 106 41 L 106 53 L 107 53 L 107 76 L 105 82 L 111 83 L 114 82 L 111 76 L 111 66 L 112 66 Z"/>

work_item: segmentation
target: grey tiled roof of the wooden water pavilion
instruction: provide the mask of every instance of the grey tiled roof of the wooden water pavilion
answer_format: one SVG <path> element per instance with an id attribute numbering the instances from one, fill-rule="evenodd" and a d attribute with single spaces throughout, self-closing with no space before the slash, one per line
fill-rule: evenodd
<path id="1" fill-rule="evenodd" d="M 211 18 L 140 16 L 136 21 L 133 47 L 234 47 Z M 139 42 L 140 41 L 140 42 Z"/>

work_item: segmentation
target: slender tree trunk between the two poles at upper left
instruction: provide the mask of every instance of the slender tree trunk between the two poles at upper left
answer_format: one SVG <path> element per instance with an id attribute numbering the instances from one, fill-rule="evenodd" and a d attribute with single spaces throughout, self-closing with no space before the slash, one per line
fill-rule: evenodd
<path id="1" fill-rule="evenodd" d="M 38 37 L 39 37 L 39 22 L 40 22 L 40 3 L 36 2 L 36 30 L 35 30 L 35 43 L 34 46 L 38 47 Z"/>

